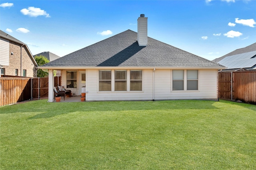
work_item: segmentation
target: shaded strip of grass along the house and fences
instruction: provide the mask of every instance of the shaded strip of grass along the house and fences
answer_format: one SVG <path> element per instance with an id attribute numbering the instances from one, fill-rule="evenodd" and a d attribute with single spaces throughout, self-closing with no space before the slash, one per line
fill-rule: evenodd
<path id="1" fill-rule="evenodd" d="M 241 104 L 230 101 L 221 101 L 228 104 L 239 105 L 241 107 L 256 111 L 256 106 Z M 29 119 L 45 119 L 79 112 L 97 111 L 145 111 L 145 110 L 178 110 L 178 109 L 219 109 L 214 106 L 216 101 L 212 100 L 162 100 L 162 101 L 104 101 L 104 102 L 66 102 L 48 103 L 42 100 L 31 101 L 19 105 L 1 107 L 0 114 L 38 112 Z"/>

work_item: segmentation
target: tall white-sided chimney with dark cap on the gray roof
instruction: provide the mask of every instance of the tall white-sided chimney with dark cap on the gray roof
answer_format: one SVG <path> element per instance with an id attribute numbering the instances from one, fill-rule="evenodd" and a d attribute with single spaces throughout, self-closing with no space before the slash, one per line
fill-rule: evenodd
<path id="1" fill-rule="evenodd" d="M 139 46 L 148 45 L 148 18 L 144 14 L 138 18 L 138 43 Z"/>

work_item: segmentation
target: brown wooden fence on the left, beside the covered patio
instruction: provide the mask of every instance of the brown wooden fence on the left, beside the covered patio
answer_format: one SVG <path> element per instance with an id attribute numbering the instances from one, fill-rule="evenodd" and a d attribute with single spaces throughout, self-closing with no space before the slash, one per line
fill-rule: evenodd
<path id="1" fill-rule="evenodd" d="M 54 77 L 54 86 L 61 85 L 61 77 Z M 1 77 L 0 106 L 48 97 L 48 77 Z"/>

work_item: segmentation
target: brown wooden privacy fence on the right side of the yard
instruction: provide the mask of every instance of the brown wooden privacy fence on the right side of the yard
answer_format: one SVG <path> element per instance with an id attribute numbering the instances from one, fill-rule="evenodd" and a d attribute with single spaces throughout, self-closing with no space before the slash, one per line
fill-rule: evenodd
<path id="1" fill-rule="evenodd" d="M 256 71 L 219 72 L 219 98 L 256 104 Z"/>

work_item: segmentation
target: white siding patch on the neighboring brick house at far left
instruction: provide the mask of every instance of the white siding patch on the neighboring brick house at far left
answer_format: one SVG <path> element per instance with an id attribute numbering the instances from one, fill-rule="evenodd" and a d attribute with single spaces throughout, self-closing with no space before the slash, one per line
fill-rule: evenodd
<path id="1" fill-rule="evenodd" d="M 0 64 L 9 66 L 9 41 L 0 38 Z"/>

